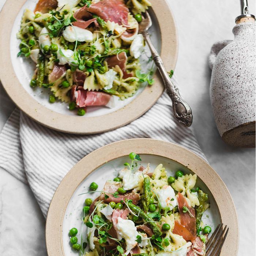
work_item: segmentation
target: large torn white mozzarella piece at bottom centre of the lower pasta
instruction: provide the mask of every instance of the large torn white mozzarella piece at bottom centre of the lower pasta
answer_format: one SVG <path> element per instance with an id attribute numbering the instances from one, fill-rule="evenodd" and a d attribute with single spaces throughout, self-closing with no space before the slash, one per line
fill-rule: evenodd
<path id="1" fill-rule="evenodd" d="M 122 219 L 121 217 L 117 218 L 116 225 L 117 233 L 125 239 L 126 243 L 126 252 L 127 255 L 132 248 L 134 248 L 138 243 L 135 241 L 139 235 L 135 224 L 129 219 Z"/>

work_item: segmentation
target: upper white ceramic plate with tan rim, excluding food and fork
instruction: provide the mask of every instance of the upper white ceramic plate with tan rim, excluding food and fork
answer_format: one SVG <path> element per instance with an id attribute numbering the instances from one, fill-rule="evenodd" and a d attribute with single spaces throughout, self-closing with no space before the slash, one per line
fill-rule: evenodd
<path id="1" fill-rule="evenodd" d="M 150 29 L 152 41 L 161 53 L 167 70 L 174 69 L 177 59 L 177 33 L 172 12 L 165 0 L 154 0 L 149 12 L 153 19 Z M 131 98 L 116 99 L 116 107 L 87 108 L 85 116 L 77 116 L 67 109 L 67 104 L 49 103 L 49 90 L 31 89 L 30 79 L 35 66 L 29 59 L 17 58 L 20 20 L 25 8 L 34 10 L 37 0 L 7 0 L 0 14 L 0 79 L 12 101 L 28 116 L 46 127 L 68 133 L 89 134 L 116 129 L 130 123 L 144 114 L 163 92 L 160 75 L 155 74 L 153 86 L 142 86 Z M 146 48 L 141 58 L 142 69 L 149 53 Z M 44 91 L 44 93 L 41 93 Z"/>

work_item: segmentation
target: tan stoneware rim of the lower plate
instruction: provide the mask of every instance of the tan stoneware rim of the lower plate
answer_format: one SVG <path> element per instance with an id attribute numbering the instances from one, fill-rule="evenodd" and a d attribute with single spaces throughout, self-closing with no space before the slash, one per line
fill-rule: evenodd
<path id="1" fill-rule="evenodd" d="M 127 139 L 108 144 L 86 155 L 60 182 L 53 195 L 46 219 L 45 237 L 49 256 L 65 255 L 62 245 L 62 223 L 67 205 L 76 188 L 99 166 L 129 155 L 131 151 L 169 158 L 196 173 L 211 191 L 222 223 L 229 227 L 221 256 L 237 255 L 239 229 L 236 208 L 226 185 L 212 167 L 195 153 L 177 144 L 155 139 Z"/>

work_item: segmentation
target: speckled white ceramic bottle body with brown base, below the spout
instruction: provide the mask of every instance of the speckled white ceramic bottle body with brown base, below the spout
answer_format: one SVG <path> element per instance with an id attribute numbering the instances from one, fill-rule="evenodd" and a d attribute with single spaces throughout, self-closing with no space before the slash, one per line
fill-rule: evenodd
<path id="1" fill-rule="evenodd" d="M 255 19 L 248 21 L 233 28 L 233 41 L 213 46 L 209 59 L 219 133 L 226 143 L 240 147 L 255 147 Z"/>

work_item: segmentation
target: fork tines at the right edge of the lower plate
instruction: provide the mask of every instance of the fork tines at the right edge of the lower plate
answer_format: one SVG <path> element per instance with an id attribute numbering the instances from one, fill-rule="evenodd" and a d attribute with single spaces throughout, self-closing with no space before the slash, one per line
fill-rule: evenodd
<path id="1" fill-rule="evenodd" d="M 206 256 L 219 256 L 221 248 L 226 240 L 229 228 L 227 225 L 223 229 L 223 224 L 219 224 L 206 243 Z"/>

